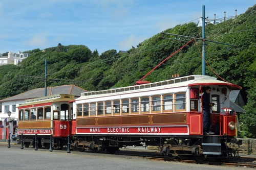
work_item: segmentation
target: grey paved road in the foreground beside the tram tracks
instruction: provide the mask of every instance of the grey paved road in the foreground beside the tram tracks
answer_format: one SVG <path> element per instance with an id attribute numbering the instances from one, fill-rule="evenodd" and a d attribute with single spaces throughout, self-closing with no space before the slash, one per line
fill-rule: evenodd
<path id="1" fill-rule="evenodd" d="M 123 155 L 24 148 L 0 143 L 0 169 L 243 169 L 180 162 L 152 161 Z"/>

